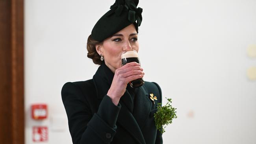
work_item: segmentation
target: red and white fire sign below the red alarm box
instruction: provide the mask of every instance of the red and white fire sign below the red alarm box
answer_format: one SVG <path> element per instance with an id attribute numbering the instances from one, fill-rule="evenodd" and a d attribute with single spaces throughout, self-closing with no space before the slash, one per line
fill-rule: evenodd
<path id="1" fill-rule="evenodd" d="M 33 142 L 48 141 L 48 128 L 46 126 L 34 126 L 32 137 L 33 137 Z"/>

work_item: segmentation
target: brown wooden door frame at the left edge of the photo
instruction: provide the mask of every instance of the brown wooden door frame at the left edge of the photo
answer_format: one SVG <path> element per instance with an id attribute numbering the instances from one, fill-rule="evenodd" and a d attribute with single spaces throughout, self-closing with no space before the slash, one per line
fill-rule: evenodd
<path id="1" fill-rule="evenodd" d="M 0 144 L 24 144 L 24 0 L 0 0 Z"/>

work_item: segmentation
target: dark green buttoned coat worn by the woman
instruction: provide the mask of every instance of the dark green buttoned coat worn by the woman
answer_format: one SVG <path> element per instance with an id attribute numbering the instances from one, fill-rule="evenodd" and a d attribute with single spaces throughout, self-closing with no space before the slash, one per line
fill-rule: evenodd
<path id="1" fill-rule="evenodd" d="M 106 95 L 113 72 L 103 63 L 93 79 L 65 83 L 61 90 L 73 144 L 162 144 L 154 113 L 161 102 L 161 89 L 145 81 L 137 88 L 134 102 L 126 89 L 116 106 Z M 158 101 L 150 100 L 153 93 Z"/>

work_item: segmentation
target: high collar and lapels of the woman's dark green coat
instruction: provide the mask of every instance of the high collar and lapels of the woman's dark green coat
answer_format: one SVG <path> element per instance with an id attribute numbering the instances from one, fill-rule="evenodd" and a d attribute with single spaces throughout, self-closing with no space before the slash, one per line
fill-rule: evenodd
<path id="1" fill-rule="evenodd" d="M 102 99 L 108 93 L 113 77 L 113 72 L 105 65 L 105 63 L 102 63 L 93 76 L 98 99 Z M 126 89 L 126 92 L 121 97 L 119 103 L 122 107 L 119 112 L 117 123 L 127 129 L 139 143 L 145 144 L 141 129 L 145 125 L 145 121 L 147 120 L 152 107 L 152 102 L 149 100 L 147 89 L 144 85 L 137 88 L 134 103 L 132 102 L 130 93 Z"/>

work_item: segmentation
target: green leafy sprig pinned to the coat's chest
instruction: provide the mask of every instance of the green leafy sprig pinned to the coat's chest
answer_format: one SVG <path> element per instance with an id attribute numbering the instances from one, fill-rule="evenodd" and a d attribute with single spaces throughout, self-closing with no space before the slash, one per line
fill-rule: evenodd
<path id="1" fill-rule="evenodd" d="M 173 122 L 173 118 L 177 118 L 176 116 L 176 108 L 172 107 L 170 103 L 172 103 L 171 98 L 166 98 L 168 102 L 166 105 L 161 106 L 161 103 L 158 103 L 158 111 L 154 113 L 154 119 L 156 123 L 156 128 L 161 132 L 165 132 L 165 127 Z"/>

